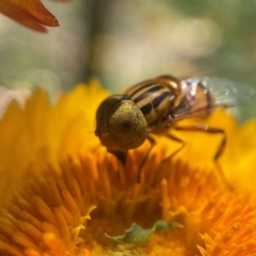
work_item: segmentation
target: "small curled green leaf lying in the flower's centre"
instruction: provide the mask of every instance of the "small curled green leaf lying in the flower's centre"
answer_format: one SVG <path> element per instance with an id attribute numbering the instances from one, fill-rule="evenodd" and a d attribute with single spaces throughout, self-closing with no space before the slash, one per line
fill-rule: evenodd
<path id="1" fill-rule="evenodd" d="M 154 226 L 149 230 L 145 230 L 140 225 L 133 223 L 129 230 L 125 230 L 125 235 L 108 236 L 108 234 L 105 233 L 105 236 L 107 236 L 113 241 L 117 241 L 120 243 L 139 244 L 144 241 L 148 241 L 148 239 L 154 234 L 154 232 L 161 230 L 172 230 L 174 228 L 183 228 L 183 225 L 178 224 L 177 222 L 158 220 L 154 223 Z"/>

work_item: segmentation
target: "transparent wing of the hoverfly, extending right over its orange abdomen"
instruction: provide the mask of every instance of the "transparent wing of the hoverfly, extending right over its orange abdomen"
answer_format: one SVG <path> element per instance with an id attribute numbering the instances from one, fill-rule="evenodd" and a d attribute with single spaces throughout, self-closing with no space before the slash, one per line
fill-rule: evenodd
<path id="1" fill-rule="evenodd" d="M 186 79 L 181 82 L 181 86 L 185 99 L 173 113 L 175 119 L 211 113 L 216 108 L 236 107 L 249 102 L 255 95 L 252 86 L 228 79 Z"/>

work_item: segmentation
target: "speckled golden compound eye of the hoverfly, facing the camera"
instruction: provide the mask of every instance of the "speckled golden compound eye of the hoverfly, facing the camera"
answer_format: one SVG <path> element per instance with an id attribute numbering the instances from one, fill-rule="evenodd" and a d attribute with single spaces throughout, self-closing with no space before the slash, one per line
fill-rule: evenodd
<path id="1" fill-rule="evenodd" d="M 141 146 L 148 135 L 146 119 L 137 105 L 123 99 L 108 111 L 108 131 L 120 148 L 125 150 Z"/>

